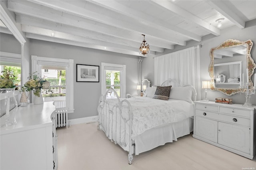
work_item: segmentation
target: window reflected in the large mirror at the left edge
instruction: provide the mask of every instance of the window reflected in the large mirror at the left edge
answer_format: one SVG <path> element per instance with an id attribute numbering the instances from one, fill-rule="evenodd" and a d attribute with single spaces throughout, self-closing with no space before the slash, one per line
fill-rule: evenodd
<path id="1" fill-rule="evenodd" d="M 14 74 L 14 84 L 20 87 L 21 83 L 21 55 L 16 53 L 7 53 L 1 51 L 0 71 L 12 71 Z"/>

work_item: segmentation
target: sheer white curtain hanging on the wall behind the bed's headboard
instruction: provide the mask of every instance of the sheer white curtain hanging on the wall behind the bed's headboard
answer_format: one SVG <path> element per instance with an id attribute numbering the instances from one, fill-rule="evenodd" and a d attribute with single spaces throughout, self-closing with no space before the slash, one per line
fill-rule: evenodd
<path id="1" fill-rule="evenodd" d="M 194 86 L 196 100 L 201 99 L 199 45 L 154 58 L 155 85 L 161 85 L 169 78 L 181 86 Z"/>

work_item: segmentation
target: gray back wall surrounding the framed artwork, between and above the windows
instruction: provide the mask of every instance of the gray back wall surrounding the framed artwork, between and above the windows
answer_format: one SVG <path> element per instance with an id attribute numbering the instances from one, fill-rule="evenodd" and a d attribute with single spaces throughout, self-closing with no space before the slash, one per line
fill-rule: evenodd
<path id="1" fill-rule="evenodd" d="M 76 64 L 99 65 L 101 62 L 126 65 L 126 93 L 137 95 L 138 61 L 137 56 L 88 49 L 73 45 L 30 40 L 30 55 L 74 59 L 74 113 L 68 119 L 77 119 L 98 115 L 98 100 L 101 94 L 100 82 L 76 82 Z"/>

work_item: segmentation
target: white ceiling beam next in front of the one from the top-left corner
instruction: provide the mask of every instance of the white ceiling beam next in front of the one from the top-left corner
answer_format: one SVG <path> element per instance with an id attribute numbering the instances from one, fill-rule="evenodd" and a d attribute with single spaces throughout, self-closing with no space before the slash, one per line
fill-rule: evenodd
<path id="1" fill-rule="evenodd" d="M 92 12 L 90 10 L 86 10 L 85 8 L 82 8 L 80 6 L 75 6 L 65 1 L 33 0 L 32 2 L 46 6 L 46 7 L 50 7 L 56 10 L 60 10 L 62 12 L 80 16 L 82 18 L 88 18 L 90 20 L 94 20 L 94 22 L 96 21 L 96 22 L 100 22 L 110 26 L 114 26 L 116 28 L 134 31 L 134 32 L 137 32 L 138 34 L 143 33 L 146 35 L 160 38 L 162 40 L 166 40 L 170 43 L 175 43 L 183 46 L 186 45 L 186 42 L 179 40 L 177 38 L 173 38 L 172 36 L 169 36 L 167 31 L 165 30 L 159 31 L 154 27 L 145 26 L 141 22 L 133 20 L 130 17 L 127 17 L 127 18 L 122 17 L 120 19 L 116 19 L 114 17 L 103 15 L 98 12 Z"/>

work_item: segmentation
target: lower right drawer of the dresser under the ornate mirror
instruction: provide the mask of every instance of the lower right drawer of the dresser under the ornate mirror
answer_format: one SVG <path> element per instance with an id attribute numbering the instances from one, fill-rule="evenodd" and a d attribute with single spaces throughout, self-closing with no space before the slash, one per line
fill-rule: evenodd
<path id="1" fill-rule="evenodd" d="M 219 114 L 218 121 L 224 121 L 228 123 L 234 123 L 236 125 L 243 125 L 243 126 L 250 127 L 250 119 L 243 118 L 243 117 Z"/>

